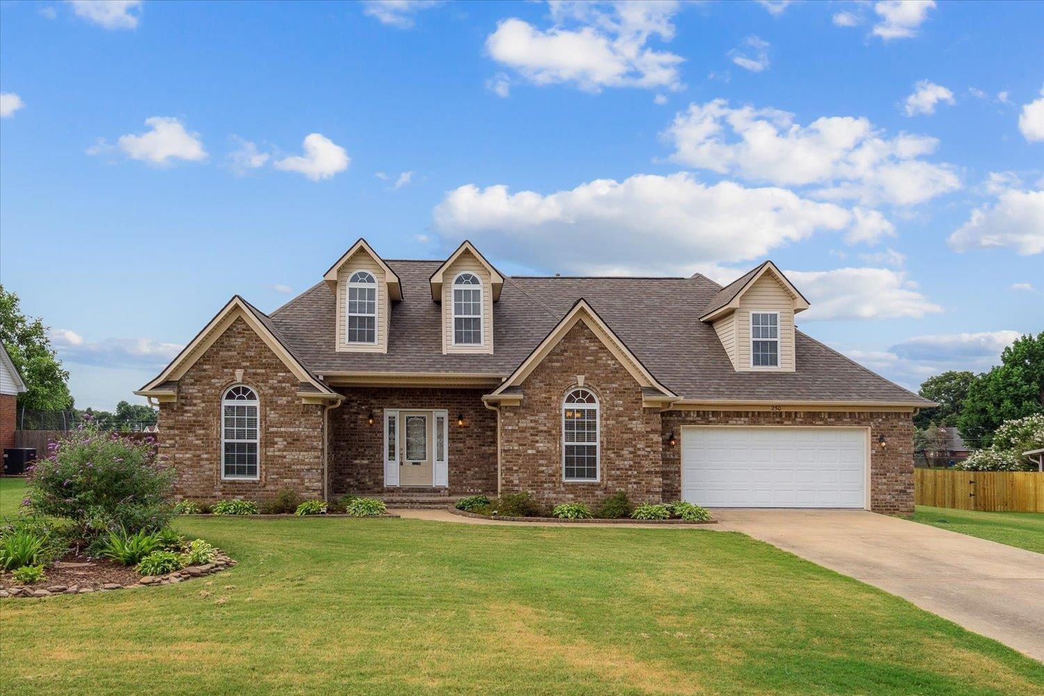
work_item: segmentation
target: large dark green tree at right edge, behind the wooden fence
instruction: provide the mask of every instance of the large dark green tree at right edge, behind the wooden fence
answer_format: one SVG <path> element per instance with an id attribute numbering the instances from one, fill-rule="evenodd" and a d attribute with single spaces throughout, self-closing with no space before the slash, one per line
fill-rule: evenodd
<path id="1" fill-rule="evenodd" d="M 1035 413 L 1044 413 L 1044 331 L 1015 339 L 1000 364 L 972 382 L 957 428 L 972 447 L 987 448 L 1004 421 Z"/>

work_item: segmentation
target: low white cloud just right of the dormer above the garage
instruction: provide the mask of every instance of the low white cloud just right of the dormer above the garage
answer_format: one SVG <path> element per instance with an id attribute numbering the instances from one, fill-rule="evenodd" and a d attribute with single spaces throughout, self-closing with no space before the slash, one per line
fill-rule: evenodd
<path id="1" fill-rule="evenodd" d="M 906 274 L 889 268 L 786 270 L 810 307 L 804 321 L 818 319 L 921 318 L 943 308 L 915 289 Z"/>

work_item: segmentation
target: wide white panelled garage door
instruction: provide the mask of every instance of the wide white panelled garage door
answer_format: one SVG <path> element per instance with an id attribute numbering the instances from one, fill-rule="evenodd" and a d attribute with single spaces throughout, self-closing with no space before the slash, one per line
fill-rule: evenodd
<path id="1" fill-rule="evenodd" d="M 682 429 L 682 498 L 709 507 L 865 505 L 859 428 Z"/>

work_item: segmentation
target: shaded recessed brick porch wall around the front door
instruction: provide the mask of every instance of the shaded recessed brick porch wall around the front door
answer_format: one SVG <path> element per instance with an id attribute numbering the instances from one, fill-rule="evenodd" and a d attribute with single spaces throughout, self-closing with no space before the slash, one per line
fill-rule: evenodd
<path id="1" fill-rule="evenodd" d="M 346 399 L 330 411 L 331 495 L 385 493 L 386 408 L 449 411 L 449 494 L 496 493 L 497 414 L 482 405 L 485 389 L 349 387 L 338 391 Z M 366 423 L 371 413 L 373 426 Z M 458 415 L 464 415 L 464 426 L 457 426 Z"/>

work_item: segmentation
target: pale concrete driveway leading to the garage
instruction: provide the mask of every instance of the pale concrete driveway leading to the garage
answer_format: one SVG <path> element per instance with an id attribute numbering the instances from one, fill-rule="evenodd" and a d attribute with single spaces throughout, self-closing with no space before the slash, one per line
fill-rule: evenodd
<path id="1" fill-rule="evenodd" d="M 864 510 L 713 510 L 721 524 L 1044 661 L 1044 554 Z"/>

